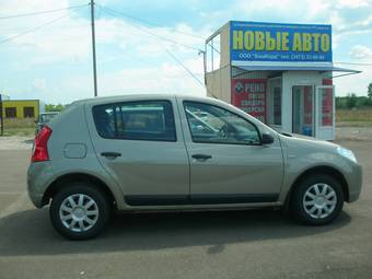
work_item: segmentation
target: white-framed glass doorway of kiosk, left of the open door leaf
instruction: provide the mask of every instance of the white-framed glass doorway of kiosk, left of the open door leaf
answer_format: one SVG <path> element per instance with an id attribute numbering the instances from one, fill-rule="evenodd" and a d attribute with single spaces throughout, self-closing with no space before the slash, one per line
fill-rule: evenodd
<path id="1" fill-rule="evenodd" d="M 314 86 L 292 86 L 292 132 L 315 136 Z"/>

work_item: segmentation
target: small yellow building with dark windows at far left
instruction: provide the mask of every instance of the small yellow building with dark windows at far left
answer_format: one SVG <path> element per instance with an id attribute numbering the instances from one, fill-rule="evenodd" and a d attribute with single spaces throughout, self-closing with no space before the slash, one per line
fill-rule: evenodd
<path id="1" fill-rule="evenodd" d="M 44 103 L 39 100 L 4 100 L 2 101 L 3 118 L 36 118 L 44 112 Z"/>

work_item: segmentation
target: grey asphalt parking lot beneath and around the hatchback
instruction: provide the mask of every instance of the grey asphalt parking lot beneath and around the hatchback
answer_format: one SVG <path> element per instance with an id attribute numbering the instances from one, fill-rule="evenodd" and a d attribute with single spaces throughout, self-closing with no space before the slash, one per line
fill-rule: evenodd
<path id="1" fill-rule="evenodd" d="M 70 242 L 25 193 L 28 150 L 0 150 L 0 278 L 372 278 L 372 141 L 344 141 L 364 167 L 361 199 L 328 226 L 280 211 L 117 216 Z"/>

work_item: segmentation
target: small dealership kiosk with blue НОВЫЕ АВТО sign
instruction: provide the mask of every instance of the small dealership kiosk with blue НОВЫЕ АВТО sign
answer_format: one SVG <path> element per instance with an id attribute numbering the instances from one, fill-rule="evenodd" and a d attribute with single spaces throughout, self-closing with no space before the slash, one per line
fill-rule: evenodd
<path id="1" fill-rule="evenodd" d="M 337 73 L 338 74 L 335 74 Z M 231 21 L 206 40 L 207 95 L 281 131 L 335 139 L 332 26 Z"/>

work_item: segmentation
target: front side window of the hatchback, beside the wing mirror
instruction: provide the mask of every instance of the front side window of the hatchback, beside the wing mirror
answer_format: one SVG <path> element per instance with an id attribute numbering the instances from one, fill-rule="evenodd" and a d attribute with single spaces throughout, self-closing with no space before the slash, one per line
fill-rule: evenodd
<path id="1" fill-rule="evenodd" d="M 256 127 L 241 116 L 204 103 L 185 102 L 184 107 L 195 142 L 260 143 Z"/>

